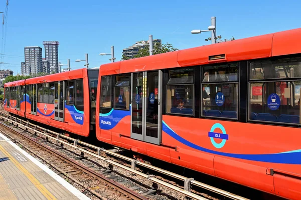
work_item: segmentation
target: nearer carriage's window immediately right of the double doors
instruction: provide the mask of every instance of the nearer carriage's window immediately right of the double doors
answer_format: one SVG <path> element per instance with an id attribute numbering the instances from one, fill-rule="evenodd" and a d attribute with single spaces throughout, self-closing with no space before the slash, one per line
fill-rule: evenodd
<path id="1" fill-rule="evenodd" d="M 169 70 L 166 112 L 194 114 L 194 68 Z"/>

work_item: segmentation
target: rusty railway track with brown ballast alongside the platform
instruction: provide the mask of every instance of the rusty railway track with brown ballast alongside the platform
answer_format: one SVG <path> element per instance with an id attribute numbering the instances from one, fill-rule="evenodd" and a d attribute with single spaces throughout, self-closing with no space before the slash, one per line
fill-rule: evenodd
<path id="1" fill-rule="evenodd" d="M 0 123 L 0 127 L 1 132 L 10 137 L 14 142 L 21 144 L 23 148 L 27 149 L 100 199 L 146 200 L 144 196 L 123 187 L 103 176 L 101 173 L 97 173 L 96 171 L 79 164 L 76 160 L 62 155 L 61 152 L 51 149 L 45 144 L 17 132 L 3 123 Z M 104 190 L 105 192 L 103 192 Z"/>

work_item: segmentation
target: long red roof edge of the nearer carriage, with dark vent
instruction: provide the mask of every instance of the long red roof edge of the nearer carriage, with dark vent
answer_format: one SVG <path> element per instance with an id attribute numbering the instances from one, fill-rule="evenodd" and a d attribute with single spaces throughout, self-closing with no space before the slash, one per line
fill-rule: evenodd
<path id="1" fill-rule="evenodd" d="M 301 53 L 301 28 L 100 66 L 102 75 L 252 60 Z M 223 55 L 223 59 L 210 60 Z"/>

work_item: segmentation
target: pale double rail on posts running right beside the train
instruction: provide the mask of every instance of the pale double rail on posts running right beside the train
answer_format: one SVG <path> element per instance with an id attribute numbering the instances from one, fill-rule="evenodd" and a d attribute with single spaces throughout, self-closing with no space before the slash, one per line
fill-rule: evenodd
<path id="1" fill-rule="evenodd" d="M 7 116 L 7 117 L 5 117 L 5 116 Z M 124 155 L 120 155 L 120 154 L 118 154 L 118 153 L 108 151 L 108 150 L 106 150 L 106 149 L 97 147 L 97 146 L 95 146 L 95 145 L 92 145 L 92 144 L 89 144 L 89 143 L 80 141 L 80 140 L 78 140 L 78 139 L 74 139 L 74 138 L 72 138 L 72 137 L 69 137 L 69 136 L 66 136 L 66 135 L 57 133 L 57 132 L 55 132 L 55 131 L 46 129 L 46 128 L 41 127 L 41 126 L 38 126 L 38 125 L 35 125 L 35 124 L 33 124 L 33 123 L 31 123 L 31 122 L 28 122 L 28 121 L 25 121 L 25 120 L 23 120 L 23 119 L 19 119 L 19 118 L 17 118 L 17 117 L 14 117 L 14 116 L 9 115 L 9 114 L 7 114 L 7 113 L 4 113 L 4 112 L 2 112 L 2 111 L 0 111 L 0 117 L 3 117 L 3 118 L 5 118 L 5 119 L 7 119 L 7 120 L 10 120 L 11 122 L 13 122 L 13 123 L 15 123 L 15 124 L 17 124 L 17 125 L 20 125 L 20 126 L 26 128 L 26 129 L 30 129 L 30 130 L 34 131 L 35 133 L 37 133 L 37 134 L 44 135 L 44 136 L 46 136 L 46 137 L 48 137 L 48 138 L 50 138 L 50 139 L 52 139 L 52 140 L 55 140 L 55 141 L 60 142 L 60 143 L 63 143 L 63 144 L 68 145 L 68 146 L 70 146 L 70 147 L 72 147 L 72 148 L 78 149 L 78 150 L 80 150 L 80 151 L 83 152 L 83 153 L 87 153 L 87 154 L 89 154 L 89 155 L 91 155 L 91 156 L 93 156 L 93 157 L 96 157 L 96 158 L 98 158 L 98 159 L 101 159 L 101 160 L 103 160 L 103 161 L 106 161 L 106 162 L 108 162 L 108 163 L 110 163 L 110 164 L 113 164 L 113 165 L 118 166 L 118 167 L 120 167 L 120 168 L 123 168 L 123 169 L 125 169 L 125 170 L 128 170 L 128 171 L 130 171 L 130 172 L 132 172 L 132 173 L 134 173 L 134 174 L 136 174 L 136 175 L 140 175 L 140 176 L 145 177 L 145 178 L 147 178 L 147 179 L 149 179 L 149 180 L 152 180 L 153 182 L 156 182 L 156 183 L 161 184 L 161 185 L 163 185 L 163 186 L 167 186 L 168 188 L 173 189 L 173 190 L 175 190 L 175 191 L 178 191 L 178 192 L 180 192 L 180 193 L 182 193 L 182 194 L 184 194 L 184 195 L 186 195 L 186 196 L 188 196 L 188 197 L 196 198 L 196 196 L 195 196 L 196 194 L 194 194 L 194 193 L 192 193 L 192 192 L 189 191 L 189 184 L 193 184 L 193 185 L 196 185 L 196 186 L 199 186 L 199 187 L 201 187 L 201 188 L 210 190 L 210 191 L 212 191 L 212 192 L 218 193 L 218 194 L 220 194 L 220 195 L 223 195 L 223 196 L 228 197 L 228 198 L 231 198 L 231 199 L 248 200 L 248 198 L 244 198 L 244 197 L 242 197 L 242 196 L 239 196 L 239 195 L 233 194 L 233 193 L 231 193 L 231 192 L 228 192 L 228 191 L 219 189 L 219 188 L 217 188 L 217 187 L 214 187 L 214 186 L 211 186 L 211 185 L 208 185 L 208 184 L 205 184 L 205 183 L 196 181 L 196 180 L 194 180 L 193 178 L 188 178 L 188 177 L 185 177 L 185 176 L 182 176 L 182 175 L 179 175 L 179 174 L 170 172 L 170 171 L 168 171 L 168 170 L 165 170 L 165 169 L 162 169 L 162 168 L 159 168 L 159 167 L 156 167 L 156 166 L 153 166 L 153 165 L 150 165 L 150 164 L 147 164 L 147 163 L 144 163 L 144 162 L 135 160 L 135 159 L 133 159 L 133 158 L 129 158 L 129 157 L 126 157 L 126 156 L 124 156 Z M 13 120 L 13 119 L 14 119 L 14 120 Z M 17 121 L 18 121 L 18 122 L 17 122 Z M 24 123 L 24 124 L 23 124 L 23 123 Z M 31 128 L 31 127 L 29 127 L 28 125 L 31 125 L 31 126 L 33 126 L 34 128 Z M 37 129 L 41 129 L 41 130 L 43 130 L 44 132 L 39 131 L 39 130 L 37 130 Z M 51 133 L 51 134 L 54 134 L 54 135 L 56 135 L 57 137 L 50 136 L 50 135 L 47 134 L 47 132 L 49 132 L 49 133 Z M 63 140 L 60 140 L 60 138 L 64 138 L 64 139 L 73 141 L 74 144 L 70 144 L 70 143 L 67 143 L 67 142 L 65 142 L 65 141 L 63 141 Z M 95 154 L 95 153 L 90 152 L 90 151 L 88 151 L 88 150 L 86 150 L 86 149 L 80 148 L 80 147 L 77 146 L 77 144 L 82 144 L 82 145 L 87 146 L 87 147 L 89 147 L 89 148 L 93 148 L 93 149 L 97 150 L 98 153 Z M 112 160 L 110 160 L 110 159 L 108 159 L 108 158 L 105 158 L 105 157 L 100 156 L 100 152 L 101 152 L 101 151 L 102 151 L 102 152 L 105 152 L 105 153 L 107 153 L 107 154 L 109 154 L 109 155 L 112 155 L 112 156 L 115 156 L 115 157 L 118 157 L 118 158 L 121 158 L 121 159 L 123 159 L 123 160 L 126 160 L 126 161 L 131 162 L 131 163 L 132 163 L 132 168 L 126 167 L 126 166 L 121 165 L 121 164 L 119 164 L 119 163 L 117 163 L 117 162 L 114 162 L 114 161 L 112 161 Z M 174 185 L 172 185 L 172 184 L 166 183 L 166 182 L 164 182 L 164 181 L 162 181 L 162 180 L 160 180 L 160 179 L 158 179 L 158 178 L 155 178 L 153 175 L 149 176 L 149 175 L 143 174 L 142 172 L 139 172 L 139 171 L 135 170 L 135 165 L 136 165 L 136 164 L 141 165 L 141 166 L 143 166 L 143 167 L 146 167 L 146 168 L 148 168 L 148 169 L 152 169 L 152 170 L 155 170 L 155 171 L 157 171 L 157 172 L 160 172 L 160 173 L 169 175 L 169 176 L 174 177 L 174 178 L 177 178 L 177 179 L 179 179 L 179 180 L 183 180 L 183 181 L 185 181 L 185 183 L 188 182 L 188 187 L 186 187 L 186 190 L 185 190 L 185 189 L 176 187 L 176 186 L 174 186 Z M 180 190 L 179 190 L 179 189 L 180 189 Z M 189 193 L 188 193 L 188 192 L 189 192 Z M 190 196 L 190 194 L 194 194 L 194 195 L 193 195 L 193 196 Z M 198 197 L 200 197 L 200 196 L 198 196 Z M 199 199 L 199 198 L 196 198 L 196 199 Z M 201 197 L 200 199 L 206 199 L 206 198 Z"/>

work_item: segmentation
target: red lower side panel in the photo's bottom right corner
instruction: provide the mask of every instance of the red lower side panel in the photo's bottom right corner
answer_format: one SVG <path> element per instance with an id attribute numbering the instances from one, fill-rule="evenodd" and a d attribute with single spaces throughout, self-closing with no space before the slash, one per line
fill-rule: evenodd
<path id="1" fill-rule="evenodd" d="M 276 173 L 273 177 L 276 195 L 290 199 L 301 199 L 301 179 Z"/>

